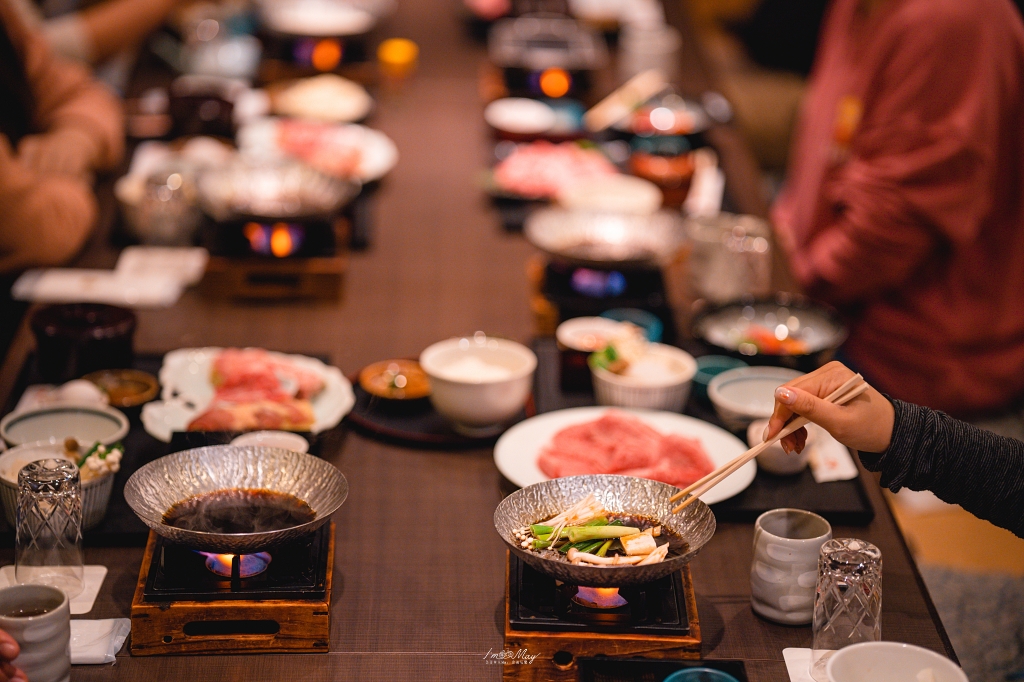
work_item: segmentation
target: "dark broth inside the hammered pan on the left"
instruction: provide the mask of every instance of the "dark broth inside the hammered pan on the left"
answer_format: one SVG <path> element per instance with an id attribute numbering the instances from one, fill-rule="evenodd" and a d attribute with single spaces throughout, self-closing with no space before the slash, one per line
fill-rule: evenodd
<path id="1" fill-rule="evenodd" d="M 182 500 L 167 510 L 164 523 L 184 530 L 245 534 L 283 530 L 314 518 L 316 512 L 294 495 L 230 488 Z"/>

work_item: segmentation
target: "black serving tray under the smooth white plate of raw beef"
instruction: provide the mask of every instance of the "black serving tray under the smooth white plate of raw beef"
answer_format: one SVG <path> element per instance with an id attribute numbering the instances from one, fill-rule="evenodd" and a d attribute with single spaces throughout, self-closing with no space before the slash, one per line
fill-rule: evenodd
<path id="1" fill-rule="evenodd" d="M 534 352 L 537 353 L 537 373 L 534 376 L 534 404 L 537 414 L 596 404 L 591 391 L 569 393 L 561 389 L 559 351 L 553 338 L 537 339 L 534 342 Z M 714 409 L 698 402 L 692 392 L 683 413 L 726 428 Z M 746 441 L 745 433 L 737 432 L 736 436 Z M 712 505 L 712 510 L 720 521 L 745 523 L 779 507 L 806 509 L 837 525 L 867 525 L 874 518 L 874 508 L 861 477 L 817 483 L 810 469 L 795 476 L 776 476 L 758 470 L 750 487 L 735 497 Z"/>

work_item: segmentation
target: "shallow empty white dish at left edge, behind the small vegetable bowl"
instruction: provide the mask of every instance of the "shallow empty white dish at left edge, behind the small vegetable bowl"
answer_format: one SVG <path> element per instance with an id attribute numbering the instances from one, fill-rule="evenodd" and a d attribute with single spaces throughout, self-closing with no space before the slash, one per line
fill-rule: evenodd
<path id="1" fill-rule="evenodd" d="M 12 412 L 0 420 L 0 437 L 10 445 L 72 437 L 79 442 L 111 445 L 128 433 L 128 418 L 102 404 L 49 404 Z"/>

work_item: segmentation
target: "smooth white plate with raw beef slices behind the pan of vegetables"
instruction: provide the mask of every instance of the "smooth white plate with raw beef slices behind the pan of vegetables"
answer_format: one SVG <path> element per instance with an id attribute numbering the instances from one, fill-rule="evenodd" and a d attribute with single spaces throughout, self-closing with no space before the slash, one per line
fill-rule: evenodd
<path id="1" fill-rule="evenodd" d="M 685 487 L 746 451 L 728 431 L 671 412 L 573 408 L 516 424 L 495 444 L 495 463 L 525 487 L 580 474 L 621 474 Z M 757 473 L 752 461 L 701 500 L 714 504 L 743 491 Z"/>

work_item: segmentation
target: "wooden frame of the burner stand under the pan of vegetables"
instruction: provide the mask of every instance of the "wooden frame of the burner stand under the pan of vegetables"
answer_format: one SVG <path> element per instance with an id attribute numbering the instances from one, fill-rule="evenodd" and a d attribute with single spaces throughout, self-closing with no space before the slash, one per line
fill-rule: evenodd
<path id="1" fill-rule="evenodd" d="M 509 620 L 509 562 L 505 562 L 505 651 L 537 654 L 531 664 L 502 666 L 502 679 L 515 682 L 575 682 L 579 657 L 642 656 L 669 660 L 700 658 L 700 625 L 689 564 L 680 571 L 689 616 L 689 634 L 675 637 L 632 633 L 581 633 L 513 630 Z"/>

